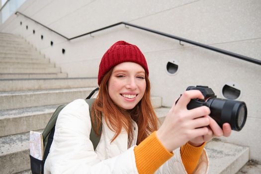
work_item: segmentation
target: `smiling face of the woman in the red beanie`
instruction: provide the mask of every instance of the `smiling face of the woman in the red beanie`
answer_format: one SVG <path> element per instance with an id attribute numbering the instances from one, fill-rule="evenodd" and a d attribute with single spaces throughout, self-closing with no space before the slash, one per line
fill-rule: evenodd
<path id="1" fill-rule="evenodd" d="M 142 99 L 145 89 L 145 71 L 139 64 L 124 62 L 113 68 L 108 81 L 108 92 L 119 107 L 134 108 Z"/>

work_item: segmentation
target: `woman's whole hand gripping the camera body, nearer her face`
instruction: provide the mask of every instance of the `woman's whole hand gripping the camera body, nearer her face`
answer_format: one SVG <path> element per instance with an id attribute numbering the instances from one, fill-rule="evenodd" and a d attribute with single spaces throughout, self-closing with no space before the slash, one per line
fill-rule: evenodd
<path id="1" fill-rule="evenodd" d="M 198 136 L 208 133 L 210 120 L 206 115 L 210 114 L 207 106 L 200 106 L 191 110 L 187 109 L 190 99 L 204 96 L 199 90 L 185 91 L 178 102 L 173 104 L 162 126 L 157 131 L 157 136 L 163 146 L 172 152 L 186 142 Z"/>

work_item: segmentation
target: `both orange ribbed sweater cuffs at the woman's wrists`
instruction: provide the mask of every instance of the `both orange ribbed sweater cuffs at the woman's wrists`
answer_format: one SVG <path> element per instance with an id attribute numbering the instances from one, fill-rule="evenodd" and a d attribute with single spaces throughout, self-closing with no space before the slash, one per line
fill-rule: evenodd
<path id="1" fill-rule="evenodd" d="M 181 159 L 188 174 L 192 174 L 196 168 L 204 146 L 205 143 L 200 147 L 186 143 L 180 148 Z M 134 154 L 139 174 L 154 174 L 174 155 L 162 145 L 156 131 L 134 148 Z"/>

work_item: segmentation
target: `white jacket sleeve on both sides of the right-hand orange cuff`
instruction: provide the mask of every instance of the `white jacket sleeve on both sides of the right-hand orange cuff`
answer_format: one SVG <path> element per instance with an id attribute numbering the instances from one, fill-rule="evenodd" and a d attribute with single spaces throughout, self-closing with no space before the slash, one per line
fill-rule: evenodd
<path id="1" fill-rule="evenodd" d="M 174 156 L 166 163 L 164 163 L 157 170 L 156 174 L 187 174 L 181 160 L 180 148 L 174 150 L 173 153 Z M 209 160 L 207 157 L 206 150 L 204 149 L 193 174 L 207 174 L 208 166 Z"/>

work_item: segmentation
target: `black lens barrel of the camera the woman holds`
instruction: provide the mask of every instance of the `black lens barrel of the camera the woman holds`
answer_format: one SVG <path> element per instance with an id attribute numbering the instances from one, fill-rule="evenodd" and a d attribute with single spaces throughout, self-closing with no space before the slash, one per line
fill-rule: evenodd
<path id="1" fill-rule="evenodd" d="M 243 101 L 222 98 L 209 98 L 206 105 L 210 108 L 210 115 L 222 128 L 229 123 L 232 130 L 240 131 L 247 120 L 247 106 Z"/>

